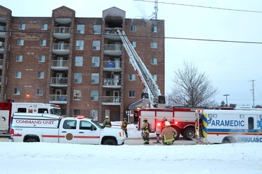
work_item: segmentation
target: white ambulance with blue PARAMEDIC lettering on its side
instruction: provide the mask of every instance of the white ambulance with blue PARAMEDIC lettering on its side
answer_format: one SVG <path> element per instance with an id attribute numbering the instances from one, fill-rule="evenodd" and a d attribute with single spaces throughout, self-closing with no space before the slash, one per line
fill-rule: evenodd
<path id="1" fill-rule="evenodd" d="M 262 110 L 196 110 L 196 141 L 262 143 Z"/>

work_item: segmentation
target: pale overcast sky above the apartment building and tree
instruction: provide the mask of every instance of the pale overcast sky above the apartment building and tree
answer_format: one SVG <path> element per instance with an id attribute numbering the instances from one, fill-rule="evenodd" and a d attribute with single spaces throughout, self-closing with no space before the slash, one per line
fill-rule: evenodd
<path id="1" fill-rule="evenodd" d="M 0 0 L 0 5 L 17 17 L 51 17 L 60 6 L 75 10 L 76 17 L 102 17 L 112 6 L 126 11 L 126 18 L 149 19 L 154 13 L 154 2 L 134 0 Z M 218 89 L 217 104 L 227 99 L 228 104 L 262 105 L 261 6 L 261 0 L 159 0 L 157 19 L 165 20 L 166 35 L 165 95 L 172 91 L 175 71 L 188 61 Z"/>

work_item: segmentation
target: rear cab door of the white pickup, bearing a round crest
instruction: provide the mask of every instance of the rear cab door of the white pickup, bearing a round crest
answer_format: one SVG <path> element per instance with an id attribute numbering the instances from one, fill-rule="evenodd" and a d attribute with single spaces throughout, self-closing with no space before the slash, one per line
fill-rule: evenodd
<path id="1" fill-rule="evenodd" d="M 62 120 L 59 127 L 59 143 L 78 143 L 77 120 Z"/>

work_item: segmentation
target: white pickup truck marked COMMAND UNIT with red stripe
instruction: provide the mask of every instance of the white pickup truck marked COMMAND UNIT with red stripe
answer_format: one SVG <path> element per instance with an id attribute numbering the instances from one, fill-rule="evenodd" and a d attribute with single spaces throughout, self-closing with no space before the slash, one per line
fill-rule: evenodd
<path id="1" fill-rule="evenodd" d="M 14 113 L 11 139 L 13 142 L 123 145 L 125 135 L 120 128 L 103 127 L 83 116 Z"/>

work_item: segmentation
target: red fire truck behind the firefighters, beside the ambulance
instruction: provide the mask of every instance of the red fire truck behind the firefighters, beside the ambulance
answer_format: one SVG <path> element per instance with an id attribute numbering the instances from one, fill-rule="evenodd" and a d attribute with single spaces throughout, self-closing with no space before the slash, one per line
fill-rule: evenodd
<path id="1" fill-rule="evenodd" d="M 150 123 L 151 132 L 161 134 L 163 118 L 166 118 L 177 132 L 175 139 L 178 139 L 181 134 L 185 139 L 191 140 L 195 136 L 195 111 L 196 109 L 193 108 L 140 109 L 138 111 L 138 130 L 146 118 Z"/>

